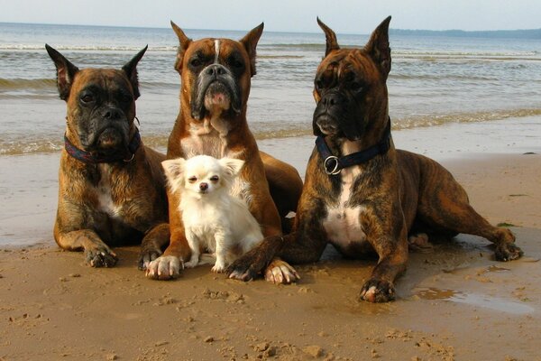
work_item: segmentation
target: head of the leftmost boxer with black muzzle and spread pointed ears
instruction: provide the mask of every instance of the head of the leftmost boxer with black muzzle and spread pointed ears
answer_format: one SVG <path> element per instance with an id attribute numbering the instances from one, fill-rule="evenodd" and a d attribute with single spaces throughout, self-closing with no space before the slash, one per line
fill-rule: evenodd
<path id="1" fill-rule="evenodd" d="M 122 69 L 82 69 L 45 45 L 57 69 L 60 98 L 68 105 L 67 135 L 92 153 L 124 152 L 130 143 L 135 99 L 140 96 L 137 63 L 147 47 Z"/>

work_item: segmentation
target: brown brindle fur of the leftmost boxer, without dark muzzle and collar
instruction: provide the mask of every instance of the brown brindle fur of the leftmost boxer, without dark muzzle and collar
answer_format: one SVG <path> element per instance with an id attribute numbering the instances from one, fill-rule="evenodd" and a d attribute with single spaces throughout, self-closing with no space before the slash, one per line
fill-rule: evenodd
<path id="1" fill-rule="evenodd" d="M 128 69 L 78 70 L 58 51 L 47 47 L 55 62 L 60 97 L 67 103 L 66 136 L 79 149 L 85 149 L 84 137 L 87 115 L 79 103 L 80 93 L 88 85 L 100 89 L 115 101 L 119 89 L 133 95 L 133 100 L 121 109 L 129 123 L 129 137 L 136 132 L 135 99 L 137 88 L 136 63 L 140 52 Z M 130 71 L 131 70 L 131 71 Z M 115 104 L 116 106 L 116 104 Z M 99 111 L 97 108 L 96 111 Z M 58 245 L 69 251 L 85 252 L 87 264 L 113 266 L 116 255 L 110 246 L 143 244 L 142 258 L 160 255 L 160 247 L 169 238 L 165 179 L 160 162 L 165 158 L 150 148 L 140 145 L 131 162 L 88 164 L 66 152 L 60 156 L 59 203 L 54 225 Z M 110 205 L 116 208 L 115 217 L 100 203 L 100 195 L 110 194 Z"/>

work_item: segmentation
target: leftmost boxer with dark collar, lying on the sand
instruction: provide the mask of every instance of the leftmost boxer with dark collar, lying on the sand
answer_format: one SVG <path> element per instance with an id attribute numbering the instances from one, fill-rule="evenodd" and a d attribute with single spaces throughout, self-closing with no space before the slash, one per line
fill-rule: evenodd
<path id="1" fill-rule="evenodd" d="M 93 267 L 116 264 L 114 245 L 142 242 L 142 259 L 156 258 L 169 240 L 165 156 L 143 146 L 133 124 L 136 67 L 147 48 L 119 70 L 79 70 L 45 47 L 68 106 L 54 239 L 63 249 L 83 250 Z"/>

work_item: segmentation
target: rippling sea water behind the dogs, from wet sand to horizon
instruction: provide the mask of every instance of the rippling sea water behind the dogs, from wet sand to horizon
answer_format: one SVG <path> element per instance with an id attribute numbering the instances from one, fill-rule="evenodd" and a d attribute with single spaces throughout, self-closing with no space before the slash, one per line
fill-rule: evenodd
<path id="1" fill-rule="evenodd" d="M 185 32 L 192 39 L 245 34 Z M 344 47 L 363 46 L 368 38 L 338 34 Z M 170 28 L 0 23 L 0 156 L 61 149 L 66 109 L 45 43 L 79 69 L 120 69 L 148 44 L 138 65 L 137 114 L 144 143 L 166 146 L 180 84 L 173 69 L 179 40 Z M 541 39 L 391 35 L 390 47 L 395 130 L 541 116 Z M 263 32 L 248 106 L 257 139 L 311 134 L 313 82 L 324 52 L 323 32 Z"/>

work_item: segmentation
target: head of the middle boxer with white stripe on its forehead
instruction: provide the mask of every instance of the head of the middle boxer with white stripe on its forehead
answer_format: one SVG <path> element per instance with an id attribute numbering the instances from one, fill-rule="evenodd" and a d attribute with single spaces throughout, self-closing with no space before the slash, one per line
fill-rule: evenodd
<path id="1" fill-rule="evenodd" d="M 243 39 L 201 39 L 192 41 L 175 23 L 179 37 L 175 69 L 182 89 L 181 106 L 196 121 L 222 117 L 234 121 L 246 112 L 251 78 L 255 75 L 255 48 L 263 32 L 263 23 Z"/>

